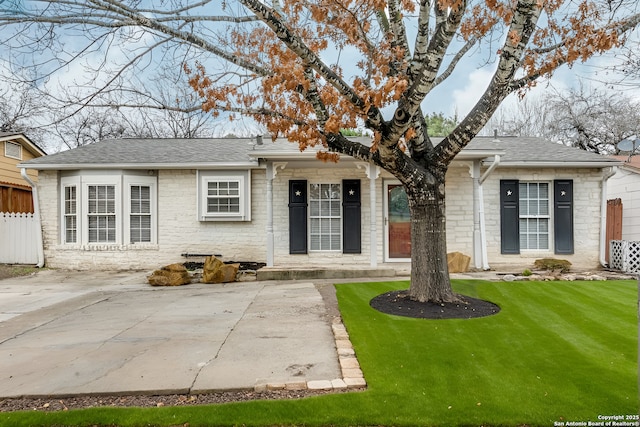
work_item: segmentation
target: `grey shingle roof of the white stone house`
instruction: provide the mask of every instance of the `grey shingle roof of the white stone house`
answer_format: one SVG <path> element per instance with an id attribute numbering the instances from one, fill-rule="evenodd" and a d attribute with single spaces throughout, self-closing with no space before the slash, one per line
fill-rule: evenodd
<path id="1" fill-rule="evenodd" d="M 354 138 L 369 145 L 371 138 Z M 434 138 L 434 143 L 438 141 Z M 305 160 L 316 149 L 300 152 L 285 139 L 111 139 L 23 162 L 31 169 L 185 169 L 259 167 L 259 159 Z M 608 167 L 619 160 L 573 147 L 528 137 L 476 137 L 457 160 L 485 159 L 500 155 L 501 166 L 517 167 Z"/>

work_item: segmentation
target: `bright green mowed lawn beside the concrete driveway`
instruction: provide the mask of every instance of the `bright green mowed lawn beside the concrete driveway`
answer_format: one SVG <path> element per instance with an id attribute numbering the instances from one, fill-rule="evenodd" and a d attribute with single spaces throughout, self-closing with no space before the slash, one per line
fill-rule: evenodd
<path id="1" fill-rule="evenodd" d="M 406 282 L 337 285 L 369 388 L 298 401 L 0 414 L 0 425 L 552 426 L 638 413 L 637 283 L 455 281 L 499 314 L 389 316 Z"/>

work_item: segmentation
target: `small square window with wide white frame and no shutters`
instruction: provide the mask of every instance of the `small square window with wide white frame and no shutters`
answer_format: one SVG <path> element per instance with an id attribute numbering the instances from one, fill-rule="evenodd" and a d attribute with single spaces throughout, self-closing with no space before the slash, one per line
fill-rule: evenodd
<path id="1" fill-rule="evenodd" d="M 250 221 L 251 171 L 198 171 L 200 221 Z"/>

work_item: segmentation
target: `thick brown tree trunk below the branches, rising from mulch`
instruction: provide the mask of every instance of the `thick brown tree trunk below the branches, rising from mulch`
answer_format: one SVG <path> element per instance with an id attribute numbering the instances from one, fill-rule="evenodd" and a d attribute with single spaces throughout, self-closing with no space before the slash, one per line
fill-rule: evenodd
<path id="1" fill-rule="evenodd" d="M 447 265 L 444 183 L 407 189 L 411 212 L 411 287 L 420 302 L 457 302 Z"/>

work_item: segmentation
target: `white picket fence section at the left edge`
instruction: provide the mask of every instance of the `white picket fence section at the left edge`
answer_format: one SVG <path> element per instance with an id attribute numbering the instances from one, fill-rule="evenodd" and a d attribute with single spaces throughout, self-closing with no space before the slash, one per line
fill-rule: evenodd
<path id="1" fill-rule="evenodd" d="M 33 214 L 0 212 L 0 264 L 37 264 L 37 231 Z"/>

